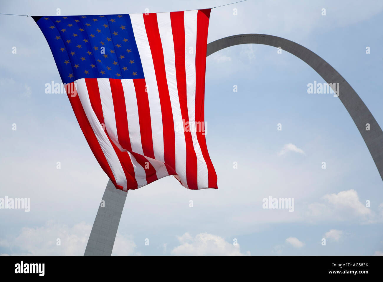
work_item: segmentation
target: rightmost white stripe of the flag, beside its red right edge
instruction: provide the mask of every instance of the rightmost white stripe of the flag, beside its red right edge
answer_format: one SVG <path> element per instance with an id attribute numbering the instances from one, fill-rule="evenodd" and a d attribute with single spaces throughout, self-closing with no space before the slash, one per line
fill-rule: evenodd
<path id="1" fill-rule="evenodd" d="M 195 49 L 197 42 L 197 13 L 195 11 L 184 12 L 185 24 L 185 68 L 186 68 L 186 97 L 188 103 L 188 114 L 190 122 L 191 138 L 197 155 L 198 189 L 209 186 L 208 168 L 203 158 L 200 144 L 195 131 Z"/>

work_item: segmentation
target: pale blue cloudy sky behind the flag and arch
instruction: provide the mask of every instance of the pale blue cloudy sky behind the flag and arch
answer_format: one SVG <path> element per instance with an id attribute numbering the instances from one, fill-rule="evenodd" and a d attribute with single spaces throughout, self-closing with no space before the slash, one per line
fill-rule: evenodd
<path id="1" fill-rule="evenodd" d="M 230 1 L 105 3 L 8 1 L 0 12 L 171 12 Z M 211 11 L 208 43 L 242 33 L 299 43 L 382 125 L 382 25 L 381 1 L 248 0 Z M 45 93 L 61 79 L 36 23 L 0 15 L 0 26 L 0 198 L 31 203 L 29 212 L 0 209 L 0 254 L 83 255 L 108 177 L 66 94 Z M 383 182 L 367 146 L 339 98 L 308 94 L 309 83 L 325 82 L 319 74 L 277 51 L 238 45 L 208 56 L 206 142 L 219 189 L 187 190 L 170 176 L 130 190 L 112 255 L 383 255 Z M 294 210 L 264 208 L 269 197 L 293 199 Z"/>

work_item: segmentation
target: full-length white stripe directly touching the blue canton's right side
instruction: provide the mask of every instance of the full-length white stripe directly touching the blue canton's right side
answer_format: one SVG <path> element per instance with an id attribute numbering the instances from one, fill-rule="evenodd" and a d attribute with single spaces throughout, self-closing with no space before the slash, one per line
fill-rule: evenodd
<path id="1" fill-rule="evenodd" d="M 147 86 L 146 89 L 147 96 L 149 98 L 154 157 L 156 160 L 164 162 L 164 132 L 162 129 L 160 96 L 158 94 L 157 79 L 155 77 L 152 53 L 147 39 L 144 18 L 142 14 L 132 14 L 130 15 L 130 19 Z"/>

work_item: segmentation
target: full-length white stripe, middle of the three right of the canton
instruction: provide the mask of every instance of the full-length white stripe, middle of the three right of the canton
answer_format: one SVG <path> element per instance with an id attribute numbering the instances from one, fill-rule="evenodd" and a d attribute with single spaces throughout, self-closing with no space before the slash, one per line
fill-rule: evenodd
<path id="1" fill-rule="evenodd" d="M 186 181 L 186 141 L 183 132 L 180 100 L 178 98 L 177 77 L 175 73 L 174 43 L 170 13 L 157 13 L 162 50 L 164 52 L 166 80 L 172 105 L 175 129 L 175 172 L 183 186 L 188 188 Z"/>

